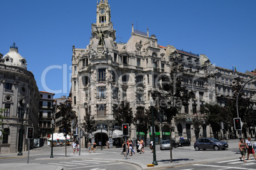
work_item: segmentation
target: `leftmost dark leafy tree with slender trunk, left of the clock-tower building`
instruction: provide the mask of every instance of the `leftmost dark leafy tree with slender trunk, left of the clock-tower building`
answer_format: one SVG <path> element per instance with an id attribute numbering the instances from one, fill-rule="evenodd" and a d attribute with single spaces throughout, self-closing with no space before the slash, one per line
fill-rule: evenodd
<path id="1" fill-rule="evenodd" d="M 67 135 L 71 133 L 71 120 L 76 118 L 75 111 L 72 110 L 71 104 L 60 103 L 57 105 L 61 119 L 60 129 L 64 132 L 66 138 L 65 156 L 67 156 Z"/>

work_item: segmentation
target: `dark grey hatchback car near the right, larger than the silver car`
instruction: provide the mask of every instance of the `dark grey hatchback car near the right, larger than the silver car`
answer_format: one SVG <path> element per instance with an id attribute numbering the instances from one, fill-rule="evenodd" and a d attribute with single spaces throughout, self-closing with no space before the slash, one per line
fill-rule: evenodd
<path id="1" fill-rule="evenodd" d="M 226 148 L 229 148 L 229 145 L 227 145 L 224 141 L 218 141 L 215 138 L 200 138 L 196 140 L 196 143 L 194 143 L 195 150 L 225 150 Z"/>

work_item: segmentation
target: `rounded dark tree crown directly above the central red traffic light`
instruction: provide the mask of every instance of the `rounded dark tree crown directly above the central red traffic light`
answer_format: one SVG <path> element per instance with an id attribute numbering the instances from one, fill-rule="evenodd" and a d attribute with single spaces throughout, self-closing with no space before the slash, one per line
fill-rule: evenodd
<path id="1" fill-rule="evenodd" d="M 115 109 L 115 113 L 117 115 L 115 120 L 117 120 L 118 125 L 129 124 L 129 126 L 131 126 L 133 113 L 129 102 L 122 101 L 118 108 Z"/>

